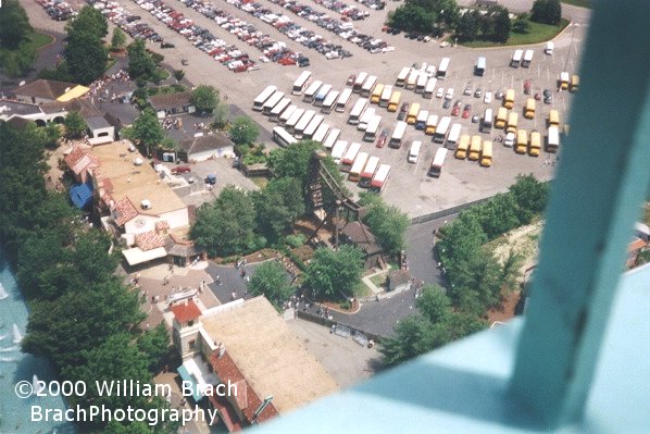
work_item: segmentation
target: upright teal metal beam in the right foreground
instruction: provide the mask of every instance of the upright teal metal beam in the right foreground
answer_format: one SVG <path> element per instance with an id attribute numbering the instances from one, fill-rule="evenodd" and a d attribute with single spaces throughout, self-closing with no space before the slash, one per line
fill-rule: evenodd
<path id="1" fill-rule="evenodd" d="M 583 417 L 650 184 L 650 2 L 593 7 L 510 383 L 542 429 Z"/>

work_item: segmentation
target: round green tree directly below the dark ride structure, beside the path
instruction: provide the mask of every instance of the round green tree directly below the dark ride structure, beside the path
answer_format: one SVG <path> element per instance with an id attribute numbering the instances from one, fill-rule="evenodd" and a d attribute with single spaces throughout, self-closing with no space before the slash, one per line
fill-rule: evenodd
<path id="1" fill-rule="evenodd" d="M 316 249 L 308 265 L 304 286 L 318 298 L 345 299 L 354 295 L 363 273 L 363 253 L 353 246 Z"/>

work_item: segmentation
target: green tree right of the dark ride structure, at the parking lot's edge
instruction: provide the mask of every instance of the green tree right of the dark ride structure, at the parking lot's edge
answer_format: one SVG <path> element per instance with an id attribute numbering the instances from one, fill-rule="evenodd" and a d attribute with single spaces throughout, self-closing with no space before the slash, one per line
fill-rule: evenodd
<path id="1" fill-rule="evenodd" d="M 363 223 L 367 224 L 387 253 L 395 256 L 404 249 L 411 221 L 399 208 L 388 206 L 379 199 L 368 207 Z"/>

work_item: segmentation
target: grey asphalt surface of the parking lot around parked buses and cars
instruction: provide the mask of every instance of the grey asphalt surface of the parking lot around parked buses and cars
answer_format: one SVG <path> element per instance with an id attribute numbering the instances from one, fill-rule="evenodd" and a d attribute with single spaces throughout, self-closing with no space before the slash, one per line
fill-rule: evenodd
<path id="1" fill-rule="evenodd" d="M 135 2 L 121 0 L 118 3 L 126 12 L 140 15 L 141 22 L 147 23 L 155 34 L 175 46 L 174 48 L 161 50 L 160 44 L 147 42 L 151 49 L 165 55 L 165 63 L 171 67 L 184 70 L 186 77 L 191 83 L 205 83 L 217 87 L 228 103 L 241 108 L 248 115 L 258 121 L 263 128 L 271 129 L 275 126 L 275 124 L 267 121 L 266 116 L 252 111 L 252 101 L 262 89 L 271 84 L 276 85 L 280 90 L 288 94 L 295 78 L 303 71 L 302 69 L 284 66 L 280 63 L 274 62 L 259 62 L 258 64 L 261 66 L 259 71 L 234 74 L 221 65 L 218 61 L 193 47 L 191 40 L 167 27 L 166 24 L 142 10 Z M 186 18 L 205 28 L 216 38 L 223 39 L 228 45 L 235 45 L 242 51 L 248 51 L 252 59 L 258 60 L 258 54 L 262 54 L 257 48 L 249 47 L 242 42 L 230 30 L 218 26 L 214 20 L 195 9 L 187 8 L 180 1 L 167 0 L 165 4 L 183 13 Z M 439 47 L 439 41 L 435 39 L 425 44 L 404 38 L 403 34 L 389 35 L 382 32 L 387 12 L 395 10 L 400 3 L 388 2 L 385 10 L 377 11 L 361 3 L 348 1 L 348 4 L 353 4 L 358 9 L 368 12 L 365 20 L 352 22 L 354 28 L 364 35 L 377 39 L 380 38 L 387 45 L 395 47 L 395 51 L 376 54 L 371 54 L 364 48 L 334 33 L 327 32 L 305 16 L 283 10 L 283 8 L 274 4 L 272 1 L 259 0 L 255 3 L 278 15 L 290 15 L 291 21 L 301 27 L 314 34 L 323 35 L 332 40 L 333 44 L 340 45 L 343 50 L 352 54 L 345 59 L 328 60 L 326 57 L 320 55 L 315 50 L 304 47 L 278 32 L 274 25 L 259 20 L 258 16 L 238 9 L 228 1 L 213 0 L 213 4 L 227 14 L 254 24 L 261 33 L 270 35 L 276 41 L 282 41 L 289 50 L 309 57 L 311 65 L 307 69 L 313 72 L 313 78 L 332 84 L 333 88 L 339 91 L 345 87 L 350 74 L 358 74 L 361 71 L 365 71 L 372 75 L 376 75 L 378 83 L 392 84 L 402 66 L 411 66 L 414 63 L 421 64 L 423 62 L 437 66 L 442 57 L 449 57 L 451 58 L 451 63 L 447 78 L 439 82 L 438 86 L 446 89 L 453 87 L 454 101 L 460 99 L 463 106 L 472 103 L 472 114 L 480 115 L 486 107 L 485 103 L 474 97 L 462 96 L 465 86 L 471 85 L 473 88 L 482 87 L 484 91 L 491 90 L 492 92 L 498 89 L 504 90 L 512 87 L 516 91 L 515 110 L 520 110 L 520 128 L 528 131 L 537 128 L 542 134 L 546 132 L 546 115 L 551 107 L 560 111 L 561 123 L 565 123 L 566 121 L 566 111 L 571 104 L 571 95 L 567 92 L 555 92 L 555 80 L 558 74 L 564 69 L 570 74 L 577 73 L 582 39 L 587 28 L 586 23 L 577 23 L 579 25 L 570 26 L 563 34 L 555 38 L 555 50 L 552 57 L 543 55 L 543 45 L 537 45 L 532 47 L 535 50 L 535 59 L 529 69 L 512 69 L 509 66 L 509 60 L 514 48 L 441 48 Z M 337 20 L 340 20 L 342 16 L 335 11 L 326 9 L 324 5 L 317 4 L 315 1 L 302 0 L 302 4 L 309 5 L 313 11 L 326 13 Z M 28 9 L 38 8 L 38 11 L 30 11 L 30 15 L 34 13 L 43 14 L 42 9 L 37 4 L 27 3 L 26 7 Z M 55 24 L 59 25 L 59 23 Z M 487 58 L 487 72 L 483 77 L 475 77 L 473 75 L 473 66 L 479 55 Z M 184 59 L 187 60 L 187 65 L 182 64 L 182 60 Z M 537 101 L 537 113 L 534 120 L 525 120 L 521 115 L 521 109 L 527 97 L 522 91 L 525 79 L 532 79 L 533 94 L 545 88 L 553 91 L 553 103 L 551 106 L 546 106 L 541 101 Z M 402 101 L 420 101 L 422 109 L 429 110 L 430 114 L 439 116 L 450 115 L 450 109 L 441 108 L 441 100 L 433 98 L 430 101 L 424 101 L 421 95 L 416 95 L 411 90 L 401 90 Z M 291 100 L 292 103 L 297 103 L 301 108 L 308 108 L 308 104 L 303 103 L 300 98 L 292 96 Z M 352 99 L 353 102 L 354 99 Z M 352 103 L 349 106 L 348 112 Z M 496 100 L 491 107 L 496 108 L 499 103 L 500 101 Z M 387 113 L 385 109 L 376 108 L 376 110 L 383 116 L 382 128 L 388 128 L 389 133 L 391 133 L 397 122 L 396 113 Z M 379 157 L 383 163 L 391 164 L 391 176 L 383 195 L 390 203 L 397 204 L 411 216 L 427 214 L 503 191 L 513 183 L 518 173 L 534 173 L 542 179 L 552 176 L 553 165 L 551 162 L 554 161 L 555 156 L 549 157 L 545 153 L 539 158 L 520 156 L 515 154 L 510 148 L 503 148 L 499 144 L 495 144 L 493 164 L 491 168 L 479 168 L 474 162 L 455 160 L 450 154 L 448 156 L 442 176 L 440 178 L 430 178 L 426 175 L 426 170 L 435 149 L 438 147 L 437 144 L 432 144 L 430 136 L 424 136 L 422 132 L 416 132 L 412 126 L 409 126 L 404 136 L 405 145 L 401 149 L 389 149 L 386 147 L 377 149 L 374 147 L 374 144 L 363 142 L 361 140 L 361 132 L 358 132 L 352 125 L 347 124 L 347 113 L 346 115 L 333 113 L 326 116 L 325 122 L 333 127 L 340 128 L 342 131 L 342 139 L 361 142 L 362 150 L 367 151 L 371 156 Z M 453 122 L 460 122 L 463 125 L 462 134 L 475 134 L 477 132 L 477 124 L 472 124 L 470 120 L 454 117 Z M 492 129 L 492 136 L 497 132 Z M 482 136 L 484 136 L 484 139 L 488 138 L 487 135 Z M 423 139 L 427 144 L 423 148 L 423 152 L 416 164 L 407 162 L 408 144 L 413 139 Z M 268 147 L 273 148 L 275 145 L 268 144 Z M 230 171 L 229 169 L 224 170 Z M 352 189 L 355 190 L 355 187 Z"/>

